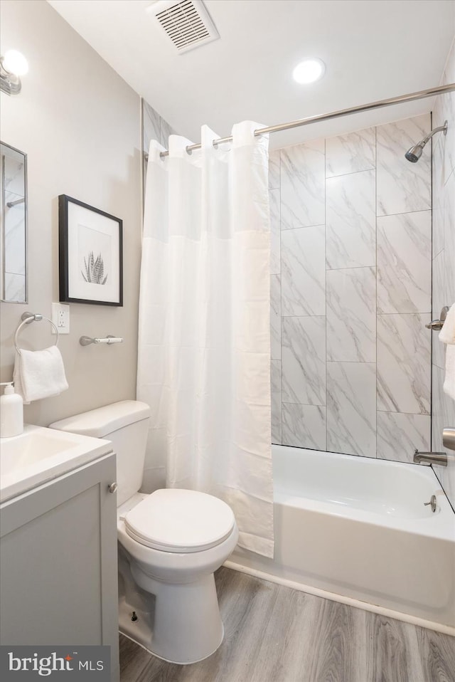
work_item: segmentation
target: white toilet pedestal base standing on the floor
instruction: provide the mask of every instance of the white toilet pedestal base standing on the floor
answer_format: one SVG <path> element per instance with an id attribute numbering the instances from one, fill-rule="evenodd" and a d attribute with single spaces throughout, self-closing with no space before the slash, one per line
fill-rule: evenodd
<path id="1" fill-rule="evenodd" d="M 144 575 L 137 566 L 134 569 L 142 603 L 138 604 L 137 592 L 136 607 L 129 603 L 128 594 L 119 599 L 120 632 L 170 663 L 197 663 L 214 654 L 223 641 L 224 628 L 213 574 L 189 584 L 165 584 Z"/>

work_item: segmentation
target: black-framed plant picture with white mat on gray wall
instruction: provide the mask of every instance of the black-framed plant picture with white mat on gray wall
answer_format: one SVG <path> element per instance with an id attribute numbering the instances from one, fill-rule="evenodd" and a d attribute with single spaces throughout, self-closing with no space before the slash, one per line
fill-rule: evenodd
<path id="1" fill-rule="evenodd" d="M 122 220 L 58 197 L 60 301 L 123 305 Z"/>

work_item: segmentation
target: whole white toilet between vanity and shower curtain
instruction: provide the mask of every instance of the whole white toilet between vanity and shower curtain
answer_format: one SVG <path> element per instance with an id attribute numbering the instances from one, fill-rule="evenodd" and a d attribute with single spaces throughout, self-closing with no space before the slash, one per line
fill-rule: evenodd
<path id="1" fill-rule="evenodd" d="M 223 641 L 213 573 L 237 545 L 231 508 L 213 495 L 139 493 L 149 406 L 124 400 L 51 429 L 112 441 L 117 453 L 119 630 L 171 663 L 196 663 Z"/>

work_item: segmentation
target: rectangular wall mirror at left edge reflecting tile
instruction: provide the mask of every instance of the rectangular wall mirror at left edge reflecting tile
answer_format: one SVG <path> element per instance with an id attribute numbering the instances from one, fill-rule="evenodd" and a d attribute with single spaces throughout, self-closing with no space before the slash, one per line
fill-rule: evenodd
<path id="1" fill-rule="evenodd" d="M 27 154 L 0 142 L 0 298 L 27 303 Z"/>

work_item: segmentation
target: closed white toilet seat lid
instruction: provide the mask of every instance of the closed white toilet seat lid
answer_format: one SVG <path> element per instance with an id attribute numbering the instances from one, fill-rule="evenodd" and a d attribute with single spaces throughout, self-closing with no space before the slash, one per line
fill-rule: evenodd
<path id="1" fill-rule="evenodd" d="M 124 518 L 127 534 L 165 552 L 198 552 L 220 545 L 235 517 L 223 500 L 196 490 L 155 490 Z"/>

